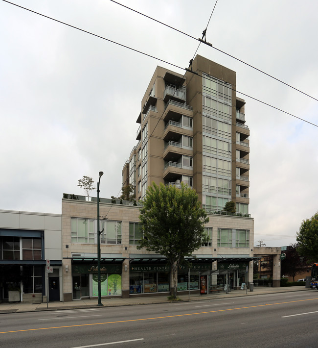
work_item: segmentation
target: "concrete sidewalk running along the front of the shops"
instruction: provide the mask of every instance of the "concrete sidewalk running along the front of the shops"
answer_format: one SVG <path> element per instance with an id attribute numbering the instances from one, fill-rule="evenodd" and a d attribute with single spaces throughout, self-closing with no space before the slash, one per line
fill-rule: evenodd
<path id="1" fill-rule="evenodd" d="M 254 287 L 251 292 L 248 290 L 231 290 L 228 294 L 220 292 L 219 294 L 182 294 L 179 295 L 182 301 L 200 301 L 207 299 L 217 298 L 234 298 L 234 297 L 245 297 L 275 293 L 287 293 L 296 291 L 315 291 L 315 289 L 306 289 L 303 286 L 291 286 L 291 287 Z M 117 306 L 131 306 L 138 304 L 154 304 L 154 303 L 169 303 L 168 296 L 145 296 L 145 297 L 130 297 L 130 298 L 102 298 L 103 307 L 117 307 Z M 49 302 L 45 303 L 21 303 L 21 302 L 4 302 L 0 303 L 0 314 L 4 313 L 21 313 L 21 312 L 32 312 L 32 311 L 46 311 L 46 310 L 65 310 L 65 309 L 81 309 L 81 308 L 96 308 L 97 298 L 95 299 L 81 299 L 73 300 L 69 302 Z M 103 308 L 99 307 L 99 308 Z"/>

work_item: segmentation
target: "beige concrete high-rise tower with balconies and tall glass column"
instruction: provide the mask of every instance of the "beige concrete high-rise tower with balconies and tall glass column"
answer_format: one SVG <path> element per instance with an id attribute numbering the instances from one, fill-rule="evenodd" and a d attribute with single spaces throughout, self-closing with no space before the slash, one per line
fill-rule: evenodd
<path id="1" fill-rule="evenodd" d="M 184 76 L 157 67 L 141 100 L 138 141 L 122 171 L 136 199 L 160 182 L 193 187 L 208 212 L 249 215 L 250 129 L 236 73 L 197 55 Z M 241 216 L 242 216 L 241 215 Z"/>

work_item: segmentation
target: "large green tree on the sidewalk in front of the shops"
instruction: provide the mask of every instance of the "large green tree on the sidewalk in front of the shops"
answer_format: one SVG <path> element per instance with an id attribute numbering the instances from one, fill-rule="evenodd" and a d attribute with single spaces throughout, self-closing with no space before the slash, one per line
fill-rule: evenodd
<path id="1" fill-rule="evenodd" d="M 209 219 L 201 208 L 196 192 L 181 184 L 148 187 L 139 216 L 143 238 L 138 249 L 146 248 L 164 255 L 171 265 L 172 295 L 177 298 L 177 272 L 189 266 L 185 257 L 207 242 L 204 224 Z M 193 256 L 192 256 L 193 257 Z"/>

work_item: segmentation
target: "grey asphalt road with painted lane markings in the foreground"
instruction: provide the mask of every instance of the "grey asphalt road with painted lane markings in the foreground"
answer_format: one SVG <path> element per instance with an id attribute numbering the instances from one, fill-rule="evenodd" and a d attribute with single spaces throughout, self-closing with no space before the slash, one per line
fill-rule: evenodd
<path id="1" fill-rule="evenodd" d="M 318 347 L 318 292 L 0 315 L 2 348 Z"/>

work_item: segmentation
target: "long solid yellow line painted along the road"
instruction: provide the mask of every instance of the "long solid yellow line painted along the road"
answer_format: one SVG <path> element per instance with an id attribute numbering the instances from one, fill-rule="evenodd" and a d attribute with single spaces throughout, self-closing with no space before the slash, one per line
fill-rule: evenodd
<path id="1" fill-rule="evenodd" d="M 15 330 L 15 331 L 3 331 L 1 333 L 12 333 L 12 332 L 24 332 L 24 331 L 36 331 L 36 330 L 50 330 L 50 329 L 62 329 L 66 327 L 79 327 L 79 326 L 91 326 L 91 325 L 105 325 L 105 324 L 115 324 L 115 323 L 129 323 L 129 322 L 140 322 L 144 320 L 154 320 L 154 319 L 166 319 L 166 318 L 176 318 L 176 317 L 185 317 L 190 315 L 198 315 L 198 314 L 208 314 L 208 313 L 217 313 L 217 312 L 226 312 L 226 311 L 233 311 L 238 309 L 248 309 L 248 308 L 256 308 L 256 307 L 264 307 L 264 306 L 274 306 L 277 304 L 286 304 L 286 303 L 295 303 L 295 302 L 302 302 L 302 301 L 313 301 L 318 298 L 308 298 L 308 299 L 299 299 L 295 301 L 288 301 L 288 302 L 277 302 L 277 303 L 265 303 L 265 304 L 258 304 L 255 306 L 248 306 L 248 307 L 237 307 L 237 308 L 228 308 L 228 309 L 219 309 L 215 311 L 207 311 L 207 312 L 198 312 L 198 313 L 187 313 L 187 314 L 175 314 L 175 315 L 168 315 L 164 317 L 155 317 L 155 318 L 142 318 L 142 319 L 130 319 L 130 320 L 120 320 L 117 322 L 105 322 L 105 323 L 90 323 L 90 324 L 78 324 L 78 325 L 67 325 L 67 326 L 53 326 L 53 327 L 40 327 L 36 329 L 25 329 L 25 330 Z"/>

